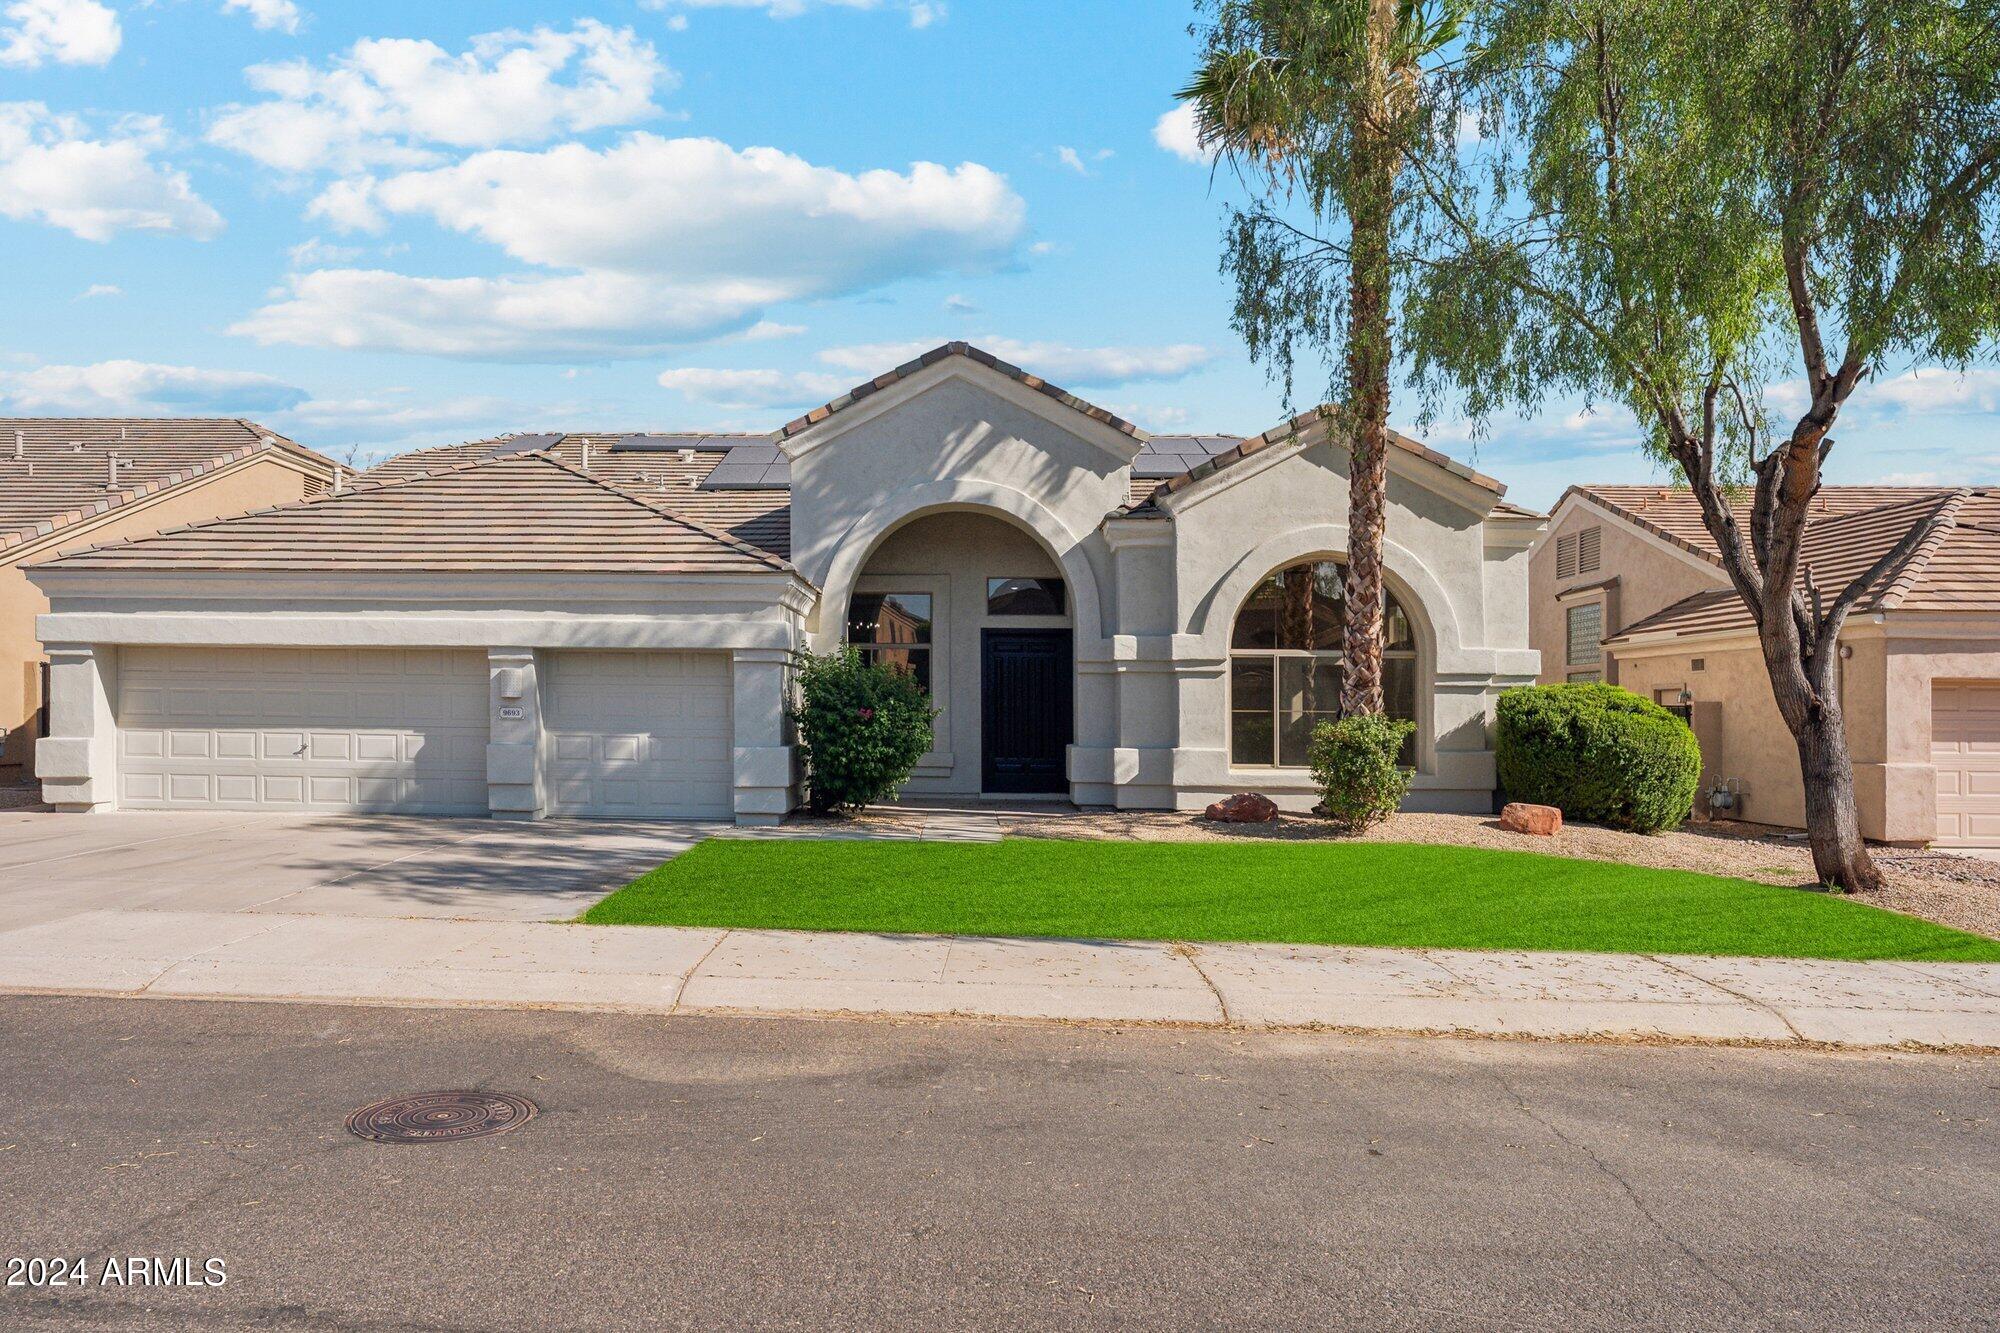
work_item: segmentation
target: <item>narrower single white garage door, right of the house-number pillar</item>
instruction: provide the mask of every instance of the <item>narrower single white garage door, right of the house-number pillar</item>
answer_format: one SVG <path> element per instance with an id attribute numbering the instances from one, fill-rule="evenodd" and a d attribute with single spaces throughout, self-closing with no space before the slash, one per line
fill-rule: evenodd
<path id="1" fill-rule="evenodd" d="M 544 727 L 558 815 L 730 815 L 726 652 L 552 652 Z"/>

